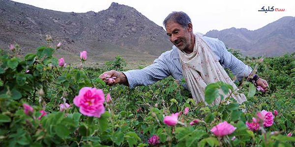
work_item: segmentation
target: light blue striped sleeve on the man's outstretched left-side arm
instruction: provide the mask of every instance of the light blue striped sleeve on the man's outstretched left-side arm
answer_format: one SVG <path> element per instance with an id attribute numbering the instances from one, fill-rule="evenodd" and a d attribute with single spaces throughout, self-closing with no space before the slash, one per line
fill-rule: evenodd
<path id="1" fill-rule="evenodd" d="M 156 81 L 171 75 L 165 55 L 161 55 L 155 59 L 153 64 L 145 67 L 142 70 L 131 70 L 123 72 L 128 80 L 130 89 L 135 86 L 149 85 Z"/>

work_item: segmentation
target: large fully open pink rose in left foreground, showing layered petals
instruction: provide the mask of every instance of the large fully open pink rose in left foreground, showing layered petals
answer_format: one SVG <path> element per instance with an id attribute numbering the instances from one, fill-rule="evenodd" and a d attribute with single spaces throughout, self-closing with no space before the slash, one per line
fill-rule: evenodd
<path id="1" fill-rule="evenodd" d="M 103 106 L 105 98 L 100 89 L 83 87 L 73 101 L 77 107 L 80 107 L 79 111 L 83 115 L 100 118 L 100 115 L 105 112 Z"/>

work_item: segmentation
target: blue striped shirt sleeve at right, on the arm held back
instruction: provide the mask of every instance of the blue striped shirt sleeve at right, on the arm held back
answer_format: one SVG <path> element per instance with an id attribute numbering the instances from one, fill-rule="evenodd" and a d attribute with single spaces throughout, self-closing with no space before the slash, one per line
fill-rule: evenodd
<path id="1" fill-rule="evenodd" d="M 231 52 L 229 52 L 224 43 L 218 40 L 218 50 L 220 51 L 220 63 L 225 68 L 229 68 L 237 80 L 241 80 L 252 73 L 252 68 L 245 65 L 241 60 L 237 59 Z"/>

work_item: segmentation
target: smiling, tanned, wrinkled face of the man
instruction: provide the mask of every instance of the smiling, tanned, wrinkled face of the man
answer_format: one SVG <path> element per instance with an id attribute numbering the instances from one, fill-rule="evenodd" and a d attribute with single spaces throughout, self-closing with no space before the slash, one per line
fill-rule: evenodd
<path id="1" fill-rule="evenodd" d="M 166 32 L 170 41 L 180 50 L 187 49 L 191 43 L 190 32 L 188 27 L 183 28 L 181 25 L 168 21 Z"/>

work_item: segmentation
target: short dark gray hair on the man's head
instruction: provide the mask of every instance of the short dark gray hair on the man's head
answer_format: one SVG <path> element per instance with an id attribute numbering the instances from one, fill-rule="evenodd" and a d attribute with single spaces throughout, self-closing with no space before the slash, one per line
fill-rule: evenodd
<path id="1" fill-rule="evenodd" d="M 164 20 L 163 25 L 164 27 L 166 27 L 166 24 L 168 21 L 173 21 L 179 25 L 181 25 L 183 28 L 186 28 L 186 25 L 188 23 L 192 23 L 191 19 L 189 18 L 189 16 L 182 12 L 182 11 L 174 11 L 172 13 L 170 13 Z"/>

